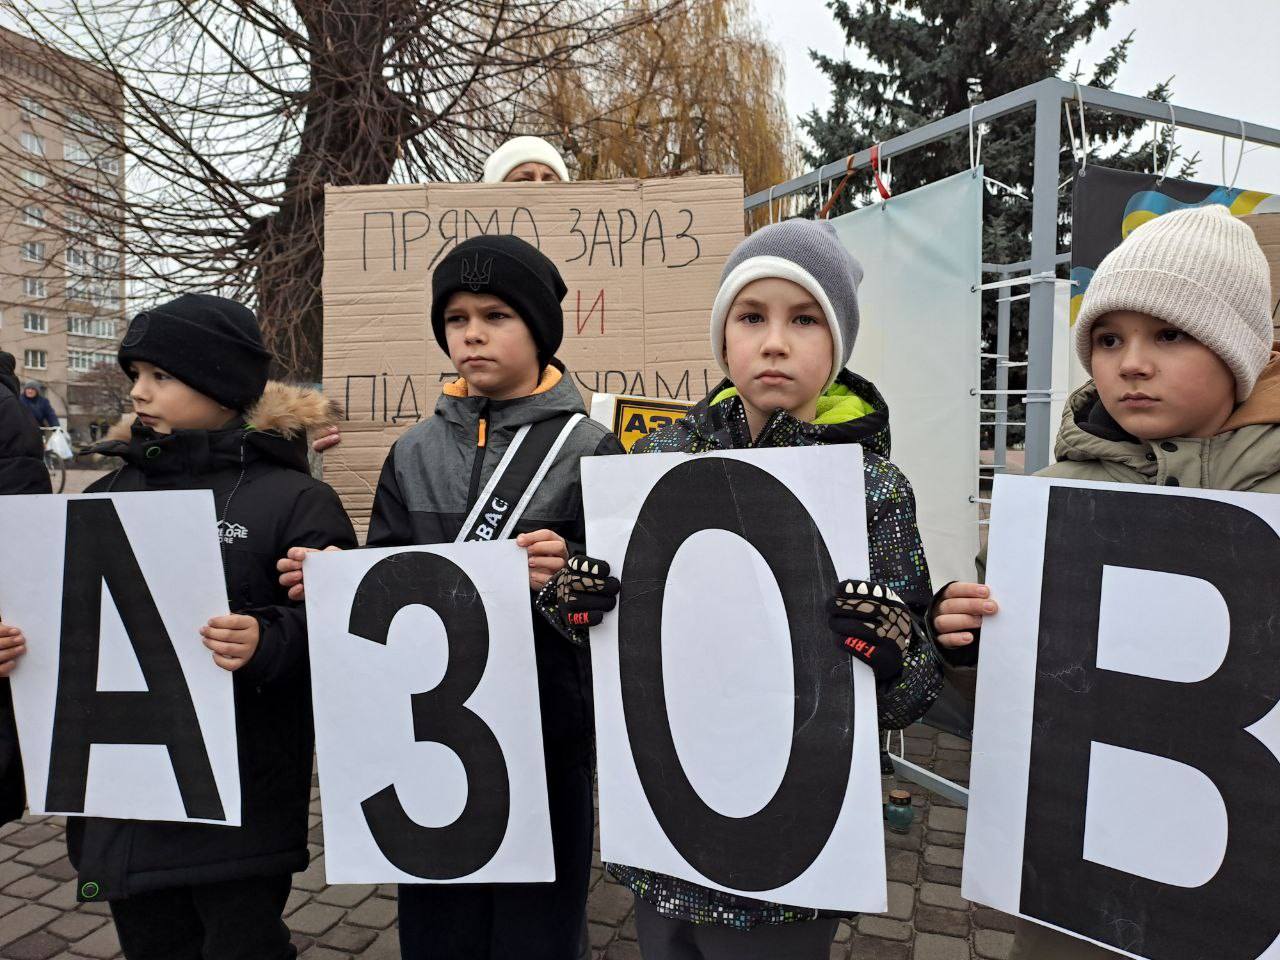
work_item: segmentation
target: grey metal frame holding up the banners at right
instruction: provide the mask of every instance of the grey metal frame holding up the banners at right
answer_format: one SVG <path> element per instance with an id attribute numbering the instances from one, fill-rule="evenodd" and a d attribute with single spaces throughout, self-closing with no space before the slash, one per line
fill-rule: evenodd
<path id="1" fill-rule="evenodd" d="M 1029 260 L 1018 264 L 983 264 L 983 273 L 996 274 L 1004 287 L 1027 285 L 1029 288 L 1029 329 L 1028 329 L 1028 357 L 1027 357 L 1027 389 L 1018 390 L 1016 396 L 1025 394 L 1027 402 L 1027 462 L 1028 474 L 1041 470 L 1048 465 L 1050 449 L 1053 440 L 1053 425 L 1050 422 L 1052 357 L 1053 357 L 1053 278 L 1060 264 L 1070 261 L 1070 252 L 1057 250 L 1057 214 L 1059 214 L 1059 156 L 1062 148 L 1062 104 L 1079 102 L 1082 115 L 1084 106 L 1093 106 L 1111 113 L 1123 114 L 1143 120 L 1176 124 L 1183 128 L 1202 131 L 1204 133 L 1217 133 L 1242 141 L 1263 143 L 1280 147 L 1280 129 L 1263 127 L 1256 123 L 1247 123 L 1229 116 L 1192 110 L 1176 104 L 1147 100 L 1144 97 L 1116 93 L 1111 90 L 1087 87 L 1070 81 L 1051 77 L 1038 83 L 1021 87 L 1004 96 L 974 104 L 973 108 L 963 113 L 933 120 L 923 127 L 904 133 L 901 137 L 887 140 L 876 147 L 861 150 L 852 157 L 842 157 L 829 164 L 819 166 L 817 170 L 780 183 L 768 189 L 753 193 L 746 198 L 744 209 L 746 211 L 768 205 L 772 210 L 774 201 L 787 196 L 804 192 L 818 191 L 822 184 L 844 177 L 849 169 L 868 168 L 873 163 L 884 161 L 890 157 L 906 154 L 916 147 L 948 137 L 954 133 L 973 131 L 977 124 L 993 120 L 997 116 L 1034 109 L 1036 124 L 1036 156 L 1032 177 L 1032 256 Z M 878 148 L 878 157 L 873 156 L 873 150 Z M 993 284 L 984 284 L 988 288 Z M 1020 298 L 1020 297 L 1018 297 Z M 998 340 L 996 353 L 997 360 L 996 389 L 983 393 L 996 397 L 996 419 L 992 424 L 996 428 L 996 468 L 1004 468 L 1005 438 L 1007 435 L 1007 403 L 1009 403 L 1009 302 L 1007 292 L 1004 293 L 997 307 Z"/>

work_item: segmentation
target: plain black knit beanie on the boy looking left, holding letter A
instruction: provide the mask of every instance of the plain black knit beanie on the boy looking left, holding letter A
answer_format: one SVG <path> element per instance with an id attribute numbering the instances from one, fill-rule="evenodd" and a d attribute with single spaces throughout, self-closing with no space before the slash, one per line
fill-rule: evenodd
<path id="1" fill-rule="evenodd" d="M 271 355 L 248 307 L 209 293 L 183 293 L 143 310 L 129 324 L 118 355 L 155 364 L 193 390 L 244 411 L 266 389 Z"/>

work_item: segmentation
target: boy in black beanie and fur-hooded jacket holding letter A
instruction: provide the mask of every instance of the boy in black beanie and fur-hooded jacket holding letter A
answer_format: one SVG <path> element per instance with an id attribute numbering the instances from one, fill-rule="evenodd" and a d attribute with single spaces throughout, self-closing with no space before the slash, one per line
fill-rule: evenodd
<path id="1" fill-rule="evenodd" d="M 314 390 L 268 383 L 269 360 L 253 312 L 233 301 L 186 294 L 138 314 L 119 351 L 137 416 L 93 448 L 124 466 L 88 493 L 212 490 L 234 611 L 186 641 L 234 672 L 242 826 L 68 818 L 78 896 L 109 902 L 129 960 L 297 952 L 282 915 L 308 860 L 311 689 L 306 614 L 274 558 L 356 536 L 338 495 L 307 472 L 306 431 L 335 411 Z"/>

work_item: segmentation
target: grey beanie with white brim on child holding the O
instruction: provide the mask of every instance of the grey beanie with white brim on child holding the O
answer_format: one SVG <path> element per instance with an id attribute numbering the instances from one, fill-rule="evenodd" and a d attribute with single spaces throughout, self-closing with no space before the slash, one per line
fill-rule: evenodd
<path id="1" fill-rule="evenodd" d="M 836 237 L 826 220 L 783 220 L 756 230 L 737 244 L 724 264 L 721 288 L 712 306 L 712 352 L 724 364 L 724 321 L 742 288 L 777 276 L 804 287 L 831 328 L 831 387 L 849 362 L 858 339 L 858 284 L 863 266 Z"/>

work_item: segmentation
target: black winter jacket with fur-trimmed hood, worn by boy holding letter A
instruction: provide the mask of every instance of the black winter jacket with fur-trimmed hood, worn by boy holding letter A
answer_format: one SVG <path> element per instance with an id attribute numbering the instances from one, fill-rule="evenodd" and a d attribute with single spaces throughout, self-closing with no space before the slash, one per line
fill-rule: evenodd
<path id="1" fill-rule="evenodd" d="M 242 826 L 69 818 L 82 900 L 307 865 L 315 735 L 306 611 L 288 600 L 275 563 L 291 547 L 356 547 L 338 495 L 307 472 L 306 430 L 334 422 L 333 413 L 320 394 L 271 383 L 244 426 L 160 435 L 134 424 L 128 439 L 95 448 L 125 463 L 90 493 L 214 492 L 230 609 L 255 616 L 262 632 L 233 684 Z"/>

